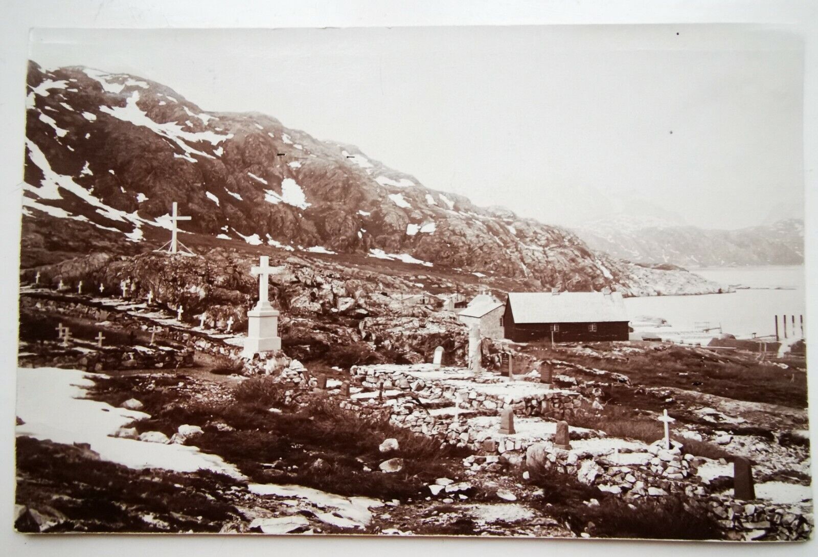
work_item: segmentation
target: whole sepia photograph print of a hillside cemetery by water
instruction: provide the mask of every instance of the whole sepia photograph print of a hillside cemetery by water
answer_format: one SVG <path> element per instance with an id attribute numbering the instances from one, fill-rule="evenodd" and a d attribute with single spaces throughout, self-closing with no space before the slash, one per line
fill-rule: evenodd
<path id="1" fill-rule="evenodd" d="M 7 528 L 809 540 L 804 65 L 33 29 Z"/>

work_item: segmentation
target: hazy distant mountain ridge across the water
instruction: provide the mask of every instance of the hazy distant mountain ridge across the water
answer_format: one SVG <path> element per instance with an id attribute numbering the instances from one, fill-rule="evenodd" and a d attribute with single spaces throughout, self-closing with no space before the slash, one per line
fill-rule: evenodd
<path id="1" fill-rule="evenodd" d="M 804 223 L 789 218 L 739 230 L 706 230 L 610 218 L 575 229 L 591 249 L 639 263 L 683 267 L 799 265 L 804 262 Z"/>

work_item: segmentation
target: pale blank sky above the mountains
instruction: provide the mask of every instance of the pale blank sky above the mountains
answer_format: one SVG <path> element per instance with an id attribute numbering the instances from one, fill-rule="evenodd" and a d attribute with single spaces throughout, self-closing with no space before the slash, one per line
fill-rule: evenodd
<path id="1" fill-rule="evenodd" d="M 38 29 L 30 57 L 263 112 L 542 222 L 802 216 L 803 50 L 781 29 Z"/>

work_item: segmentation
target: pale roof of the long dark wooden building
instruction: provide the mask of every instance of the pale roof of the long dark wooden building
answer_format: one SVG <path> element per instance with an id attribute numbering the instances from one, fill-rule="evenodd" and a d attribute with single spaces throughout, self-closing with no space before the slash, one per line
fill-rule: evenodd
<path id="1" fill-rule="evenodd" d="M 515 323 L 628 321 L 619 292 L 510 292 L 508 303 Z"/>

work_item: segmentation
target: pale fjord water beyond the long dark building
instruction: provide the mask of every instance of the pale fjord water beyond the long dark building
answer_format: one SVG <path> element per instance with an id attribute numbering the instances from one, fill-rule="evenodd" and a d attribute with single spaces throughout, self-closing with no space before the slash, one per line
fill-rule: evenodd
<path id="1" fill-rule="evenodd" d="M 794 315 L 798 336 L 801 335 L 798 316 L 804 315 L 804 328 L 807 327 L 803 266 L 703 267 L 691 271 L 737 290 L 728 294 L 628 298 L 625 308 L 631 319 L 663 317 L 675 329 L 694 329 L 704 322 L 710 326 L 721 324 L 725 333 L 738 337 L 753 333 L 774 335 L 775 315 Z M 783 330 L 780 332 L 783 335 Z"/>

